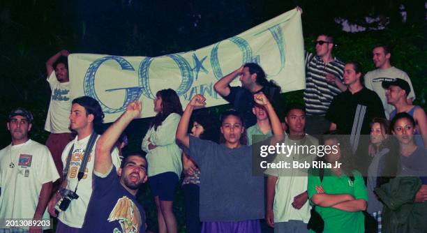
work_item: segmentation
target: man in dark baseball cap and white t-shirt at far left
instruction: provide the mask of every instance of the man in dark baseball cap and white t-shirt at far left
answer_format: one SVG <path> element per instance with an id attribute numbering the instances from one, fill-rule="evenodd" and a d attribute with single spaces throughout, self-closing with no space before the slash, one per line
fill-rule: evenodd
<path id="1" fill-rule="evenodd" d="M 45 210 L 59 174 L 49 149 L 29 139 L 32 121 L 33 114 L 18 107 L 6 123 L 12 142 L 0 151 L 0 232 L 29 230 L 28 225 L 6 227 L 2 223 L 6 218 L 49 220 Z"/>

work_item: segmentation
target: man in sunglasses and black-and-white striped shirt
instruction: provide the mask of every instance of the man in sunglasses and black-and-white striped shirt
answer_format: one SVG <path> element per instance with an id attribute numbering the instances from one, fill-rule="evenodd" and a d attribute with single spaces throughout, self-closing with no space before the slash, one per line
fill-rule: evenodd
<path id="1" fill-rule="evenodd" d="M 329 129 L 330 122 L 324 117 L 334 96 L 347 87 L 343 84 L 345 63 L 332 56 L 334 38 L 317 36 L 316 54 L 306 52 L 306 132 L 320 135 Z"/>

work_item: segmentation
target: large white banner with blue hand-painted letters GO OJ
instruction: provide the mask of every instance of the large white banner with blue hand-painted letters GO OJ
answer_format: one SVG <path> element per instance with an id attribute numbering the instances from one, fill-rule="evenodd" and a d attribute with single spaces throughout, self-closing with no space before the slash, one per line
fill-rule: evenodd
<path id="1" fill-rule="evenodd" d="M 99 101 L 105 122 L 112 122 L 133 100 L 142 101 L 142 117 L 153 117 L 160 89 L 177 91 L 183 107 L 195 94 L 207 107 L 225 102 L 213 89 L 221 77 L 244 63 L 260 64 L 283 92 L 304 89 L 304 40 L 301 14 L 290 10 L 244 33 L 198 50 L 160 57 L 70 54 L 71 97 Z M 240 85 L 237 78 L 232 86 Z"/>

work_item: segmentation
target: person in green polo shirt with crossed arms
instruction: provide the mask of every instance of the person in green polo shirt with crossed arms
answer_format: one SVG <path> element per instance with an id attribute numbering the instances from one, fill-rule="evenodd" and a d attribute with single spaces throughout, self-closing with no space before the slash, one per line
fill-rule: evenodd
<path id="1" fill-rule="evenodd" d="M 331 168 L 313 168 L 309 172 L 308 198 L 324 220 L 324 233 L 363 233 L 362 211 L 366 210 L 368 191 L 361 174 L 352 170 L 350 141 L 343 136 L 324 135 L 324 145 L 332 149 L 325 150 L 322 159 Z"/>

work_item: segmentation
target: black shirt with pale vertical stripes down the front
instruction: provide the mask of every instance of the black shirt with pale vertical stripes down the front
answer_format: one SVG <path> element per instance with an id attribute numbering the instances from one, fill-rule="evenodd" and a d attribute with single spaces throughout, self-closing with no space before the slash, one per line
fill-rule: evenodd
<path id="1" fill-rule="evenodd" d="M 366 87 L 352 94 L 350 91 L 335 96 L 327 111 L 326 118 L 336 123 L 336 130 L 342 135 L 352 134 L 353 125 L 361 123 L 361 135 L 370 134 L 370 122 L 375 117 L 385 118 L 380 97 Z M 354 122 L 356 121 L 356 122 Z"/>

